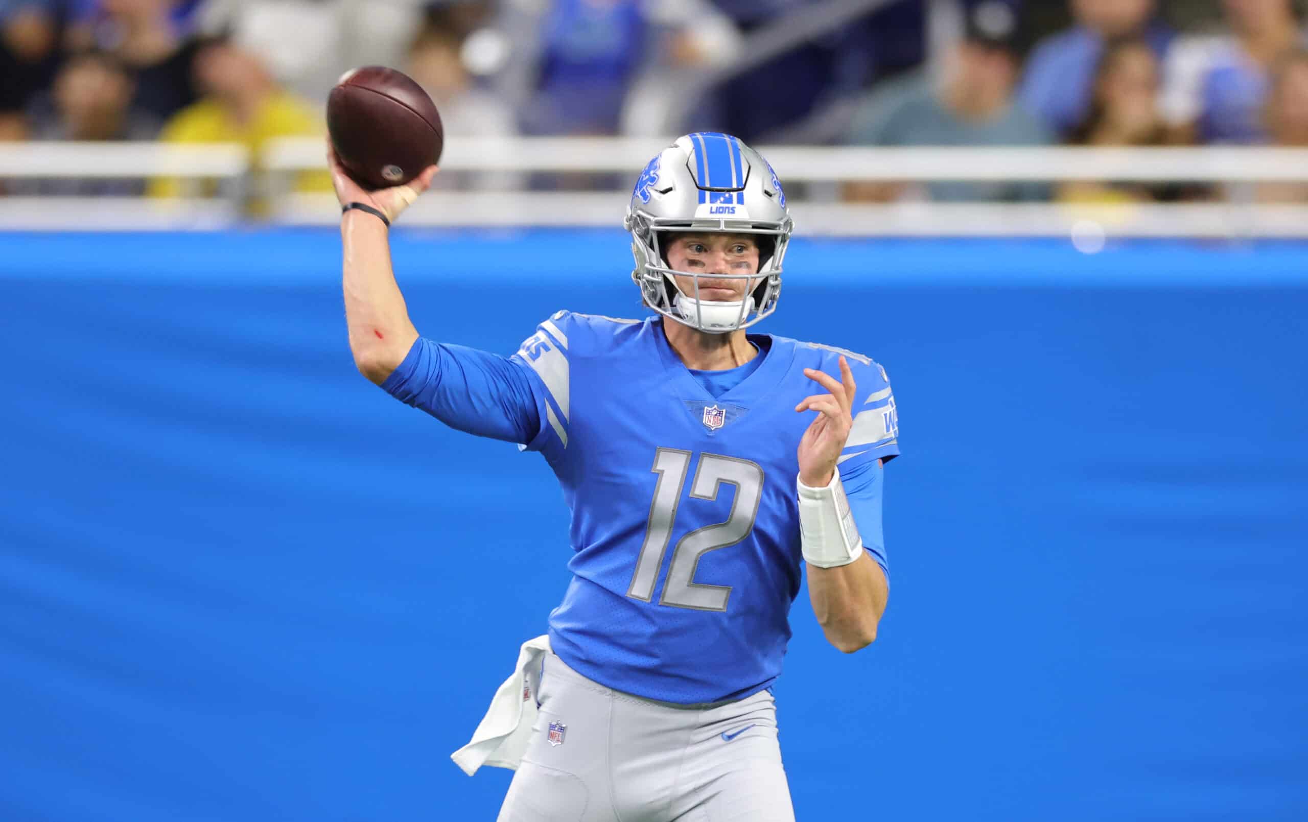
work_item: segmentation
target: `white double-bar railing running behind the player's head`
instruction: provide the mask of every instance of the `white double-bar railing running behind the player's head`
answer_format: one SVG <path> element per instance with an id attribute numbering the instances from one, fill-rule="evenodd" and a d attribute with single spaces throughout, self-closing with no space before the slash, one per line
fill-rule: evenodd
<path id="1" fill-rule="evenodd" d="M 453 140 L 447 173 L 487 175 L 522 186 L 531 173 L 613 175 L 634 179 L 667 139 L 530 137 Z M 1308 205 L 1260 205 L 1254 187 L 1308 183 L 1308 150 L 1267 148 L 1087 149 L 760 146 L 790 191 L 800 234 L 829 235 L 1062 235 L 1292 237 L 1308 238 Z M 258 159 L 258 162 L 255 162 Z M 241 220 L 252 192 L 267 220 L 331 225 L 339 208 L 330 193 L 296 193 L 296 173 L 322 169 L 320 139 L 273 141 L 259 158 L 233 145 L 0 144 L 0 178 L 152 178 L 220 180 L 217 196 L 0 197 L 0 229 L 221 227 Z M 266 170 L 255 175 L 252 169 Z M 258 176 L 258 183 L 254 184 Z M 449 179 L 449 178 L 447 178 Z M 508 180 L 508 183 L 506 183 Z M 1218 184 L 1222 203 L 1073 205 L 859 204 L 840 201 L 840 184 L 871 182 L 1192 182 Z M 451 191 L 425 196 L 405 213 L 415 226 L 616 226 L 629 199 L 613 191 Z"/>

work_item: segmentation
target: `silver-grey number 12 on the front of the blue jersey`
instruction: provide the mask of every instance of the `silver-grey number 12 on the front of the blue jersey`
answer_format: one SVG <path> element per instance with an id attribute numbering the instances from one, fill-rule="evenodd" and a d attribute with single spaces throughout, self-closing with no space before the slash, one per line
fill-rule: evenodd
<path id="1" fill-rule="evenodd" d="M 681 502 L 681 490 L 691 470 L 692 453 L 679 448 L 659 448 L 654 453 L 653 473 L 658 474 L 654 499 L 650 502 L 645 541 L 636 558 L 636 572 L 627 596 L 650 602 L 658 582 L 663 555 L 672 540 L 672 525 Z M 727 548 L 744 540 L 753 529 L 763 495 L 763 468 L 757 463 L 719 453 L 701 453 L 700 464 L 691 481 L 691 499 L 714 501 L 722 484 L 735 486 L 731 514 L 725 523 L 705 525 L 687 533 L 672 549 L 672 563 L 667 570 L 659 605 L 691 608 L 693 610 L 726 610 L 730 585 L 702 585 L 695 582 L 700 558 L 709 551 Z"/>

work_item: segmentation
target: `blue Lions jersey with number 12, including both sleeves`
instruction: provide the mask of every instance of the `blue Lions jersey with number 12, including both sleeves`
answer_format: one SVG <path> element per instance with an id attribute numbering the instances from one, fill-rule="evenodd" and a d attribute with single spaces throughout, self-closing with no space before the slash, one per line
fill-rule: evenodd
<path id="1" fill-rule="evenodd" d="M 572 583 L 555 653 L 620 691 L 676 703 L 743 698 L 781 673 L 799 592 L 797 448 L 846 354 L 858 397 L 840 472 L 886 567 L 879 460 L 899 453 L 884 370 L 859 354 L 749 335 L 761 362 L 713 396 L 661 319 L 559 312 L 511 358 L 420 340 L 383 384 L 476 434 L 540 451 L 572 511 Z M 865 515 L 859 498 L 875 497 Z"/>

